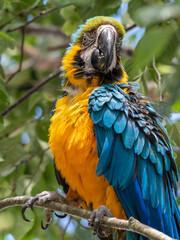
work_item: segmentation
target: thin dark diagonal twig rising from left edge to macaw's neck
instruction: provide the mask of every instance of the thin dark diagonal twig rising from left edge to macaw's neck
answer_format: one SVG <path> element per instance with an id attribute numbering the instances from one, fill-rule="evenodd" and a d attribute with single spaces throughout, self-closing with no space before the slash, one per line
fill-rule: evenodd
<path id="1" fill-rule="evenodd" d="M 28 92 L 26 92 L 19 100 L 13 103 L 9 108 L 7 108 L 3 113 L 2 117 L 6 117 L 10 112 L 12 112 L 17 106 L 19 106 L 24 100 L 30 97 L 33 93 L 35 93 L 38 89 L 43 87 L 46 83 L 48 83 L 53 78 L 59 76 L 60 70 L 56 70 L 55 72 L 49 74 L 48 77 L 43 79 L 41 82 L 37 83 L 34 87 L 32 87 Z"/>

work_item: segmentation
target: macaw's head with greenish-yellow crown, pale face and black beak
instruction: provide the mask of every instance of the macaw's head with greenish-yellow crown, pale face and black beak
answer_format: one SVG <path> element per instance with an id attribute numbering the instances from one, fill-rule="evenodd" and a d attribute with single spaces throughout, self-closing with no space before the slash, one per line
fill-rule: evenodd
<path id="1" fill-rule="evenodd" d="M 86 89 L 107 83 L 126 82 L 120 63 L 123 26 L 111 17 L 88 19 L 72 35 L 72 43 L 62 61 L 65 86 Z"/>

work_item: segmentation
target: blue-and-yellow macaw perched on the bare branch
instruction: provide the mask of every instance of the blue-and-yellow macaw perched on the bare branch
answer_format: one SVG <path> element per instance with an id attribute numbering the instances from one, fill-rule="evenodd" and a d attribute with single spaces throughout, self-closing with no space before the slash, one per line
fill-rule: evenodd
<path id="1" fill-rule="evenodd" d="M 62 61 L 65 94 L 49 129 L 56 176 L 79 206 L 103 205 L 117 218 L 133 216 L 180 239 L 172 147 L 160 115 L 128 83 L 124 33 L 115 19 L 95 17 L 72 36 Z"/>

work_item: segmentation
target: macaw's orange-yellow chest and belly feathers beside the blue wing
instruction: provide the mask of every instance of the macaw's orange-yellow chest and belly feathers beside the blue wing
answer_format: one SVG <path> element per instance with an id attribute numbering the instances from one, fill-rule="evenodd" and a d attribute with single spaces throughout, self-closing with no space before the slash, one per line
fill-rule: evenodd
<path id="1" fill-rule="evenodd" d="M 115 216 L 124 217 L 112 186 L 103 176 L 95 174 L 97 144 L 88 113 L 89 96 L 93 89 L 88 88 L 73 99 L 69 96 L 59 99 L 51 119 L 49 144 L 56 168 L 87 205 L 92 203 L 94 209 L 106 205 Z"/>

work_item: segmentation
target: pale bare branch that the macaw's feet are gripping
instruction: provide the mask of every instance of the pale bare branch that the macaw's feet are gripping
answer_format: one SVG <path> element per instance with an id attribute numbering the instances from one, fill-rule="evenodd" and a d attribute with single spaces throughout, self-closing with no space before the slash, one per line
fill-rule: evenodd
<path id="1" fill-rule="evenodd" d="M 92 213 L 91 211 L 80 209 L 72 205 L 69 205 L 68 200 L 66 200 L 60 195 L 59 195 L 59 198 L 61 199 L 62 203 L 59 203 L 59 202 L 57 203 L 55 201 L 48 201 L 41 204 L 38 202 L 35 202 L 34 205 L 41 208 L 48 208 L 52 211 L 64 212 L 71 216 L 89 219 Z M 20 196 L 20 197 L 3 199 L 0 201 L 0 211 L 2 211 L 5 208 L 9 208 L 13 206 L 23 206 L 30 199 L 31 199 L 30 196 Z M 153 240 L 172 240 L 171 237 L 168 237 L 162 232 L 159 232 L 158 230 L 155 230 L 149 226 L 146 226 L 140 223 L 138 220 L 134 219 L 133 217 L 131 217 L 129 220 L 104 217 L 102 224 L 110 228 L 135 232 Z"/>

